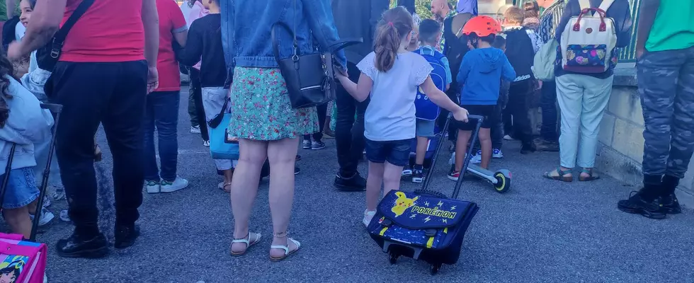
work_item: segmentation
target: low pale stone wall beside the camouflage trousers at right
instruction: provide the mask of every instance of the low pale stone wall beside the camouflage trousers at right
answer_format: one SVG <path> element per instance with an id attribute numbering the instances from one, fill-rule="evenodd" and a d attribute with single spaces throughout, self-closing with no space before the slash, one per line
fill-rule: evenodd
<path id="1" fill-rule="evenodd" d="M 642 185 L 644 117 L 637 91 L 636 69 L 624 65 L 615 69 L 610 104 L 601 122 L 596 168 L 630 185 Z M 694 207 L 694 163 L 676 192 L 681 204 Z"/>

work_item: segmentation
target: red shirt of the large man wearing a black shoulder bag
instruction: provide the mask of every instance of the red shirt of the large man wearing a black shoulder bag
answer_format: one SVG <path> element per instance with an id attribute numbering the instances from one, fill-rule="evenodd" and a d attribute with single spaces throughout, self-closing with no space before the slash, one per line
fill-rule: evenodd
<path id="1" fill-rule="evenodd" d="M 80 2 L 67 0 L 62 23 Z M 137 60 L 144 60 L 142 0 L 94 1 L 67 34 L 60 55 L 67 62 Z"/>

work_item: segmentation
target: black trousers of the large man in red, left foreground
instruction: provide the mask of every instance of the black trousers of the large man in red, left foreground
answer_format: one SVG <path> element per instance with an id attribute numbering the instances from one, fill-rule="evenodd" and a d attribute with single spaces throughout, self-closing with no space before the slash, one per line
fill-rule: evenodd
<path id="1" fill-rule="evenodd" d="M 99 124 L 113 154 L 116 224 L 134 224 L 144 182 L 147 62 L 58 62 L 51 81 L 53 101 L 64 106 L 56 155 L 76 231 L 98 231 L 93 139 Z"/>

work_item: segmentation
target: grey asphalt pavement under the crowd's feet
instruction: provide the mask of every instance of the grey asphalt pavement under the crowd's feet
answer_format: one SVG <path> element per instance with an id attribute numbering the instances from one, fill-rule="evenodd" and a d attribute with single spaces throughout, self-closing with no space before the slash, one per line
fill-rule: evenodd
<path id="1" fill-rule="evenodd" d="M 457 265 L 429 275 L 429 265 L 388 257 L 369 238 L 361 219 L 364 192 L 339 192 L 335 143 L 326 149 L 300 149 L 290 236 L 302 250 L 283 262 L 270 262 L 272 235 L 268 181 L 258 190 L 251 230 L 263 241 L 243 257 L 229 255 L 233 219 L 229 195 L 217 188 L 221 177 L 199 134 L 191 134 L 188 93 L 181 93 L 178 124 L 178 174 L 190 186 L 171 194 L 144 195 L 135 246 L 112 249 L 98 260 L 59 258 L 55 243 L 72 226 L 55 219 L 38 240 L 49 245 L 49 282 L 694 282 L 694 212 L 661 221 L 619 212 L 616 204 L 637 187 L 603 177 L 589 183 L 545 180 L 557 166 L 557 153 L 520 155 L 504 144 L 505 157 L 492 168 L 513 172 L 513 187 L 495 192 L 479 180 L 465 181 L 460 199 L 479 204 L 465 236 Z M 67 122 L 67 121 L 65 121 Z M 104 161 L 100 176 L 101 227 L 113 243 L 112 158 L 106 137 L 98 134 Z M 445 178 L 448 153 L 431 188 L 450 194 Z M 366 164 L 360 164 L 365 175 Z M 402 183 L 402 190 L 417 185 Z M 67 204 L 55 202 L 57 215 Z"/>

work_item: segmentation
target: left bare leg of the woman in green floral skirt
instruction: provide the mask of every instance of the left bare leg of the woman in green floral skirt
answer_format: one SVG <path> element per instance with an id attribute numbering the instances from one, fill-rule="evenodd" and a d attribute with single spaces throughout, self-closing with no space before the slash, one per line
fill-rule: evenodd
<path id="1" fill-rule="evenodd" d="M 235 239 L 246 238 L 249 235 L 251 209 L 258 192 L 260 171 L 268 155 L 268 142 L 240 139 L 239 151 L 239 164 L 236 167 L 237 178 L 232 179 L 231 193 Z M 232 244 L 232 252 L 234 253 L 243 252 L 246 248 L 244 243 Z"/>

